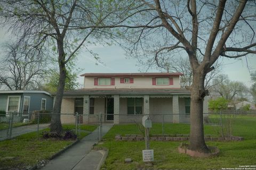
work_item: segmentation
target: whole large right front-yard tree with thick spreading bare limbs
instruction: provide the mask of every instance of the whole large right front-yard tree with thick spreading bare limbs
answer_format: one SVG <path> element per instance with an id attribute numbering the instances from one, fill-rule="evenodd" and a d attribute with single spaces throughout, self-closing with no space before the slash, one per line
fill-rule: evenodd
<path id="1" fill-rule="evenodd" d="M 136 1 L 137 2 L 137 1 Z M 177 54 L 189 58 L 193 71 L 189 148 L 210 152 L 205 145 L 203 100 L 206 74 L 220 57 L 238 58 L 256 54 L 254 1 L 138 1 L 141 12 L 131 23 L 140 29 L 123 29 L 132 44 L 131 55 L 151 62 Z M 143 11 L 142 11 L 143 10 Z M 129 36 L 130 35 L 130 36 Z M 125 46 L 125 45 L 124 45 Z M 126 46 L 127 47 L 127 46 Z M 203 56 L 199 60 L 198 53 Z"/>

